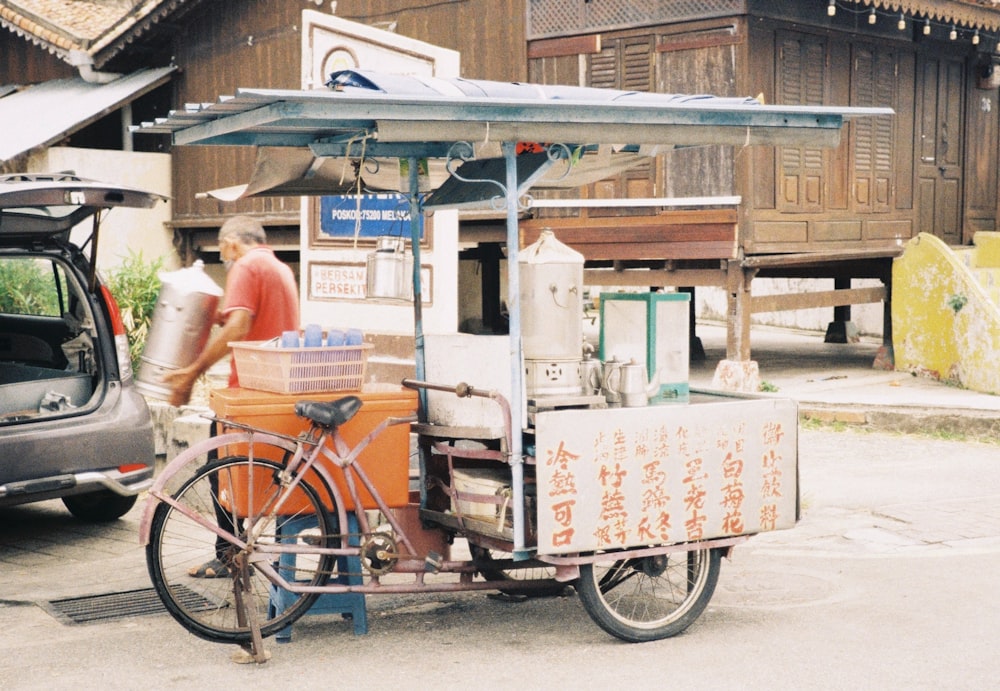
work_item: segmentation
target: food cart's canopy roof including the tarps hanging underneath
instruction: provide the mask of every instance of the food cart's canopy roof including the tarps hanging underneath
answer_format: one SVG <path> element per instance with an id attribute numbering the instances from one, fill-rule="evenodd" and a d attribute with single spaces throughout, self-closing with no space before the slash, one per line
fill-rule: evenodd
<path id="1" fill-rule="evenodd" d="M 420 191 L 432 192 L 425 205 L 442 208 L 497 197 L 502 142 L 518 143 L 523 194 L 579 187 L 673 146 L 836 146 L 845 120 L 891 114 L 346 70 L 333 73 L 326 89 L 239 89 L 136 129 L 170 134 L 175 145 L 257 147 L 253 178 L 210 193 L 221 199 L 408 191 L 405 166 L 395 160 L 406 159 L 420 162 Z"/>

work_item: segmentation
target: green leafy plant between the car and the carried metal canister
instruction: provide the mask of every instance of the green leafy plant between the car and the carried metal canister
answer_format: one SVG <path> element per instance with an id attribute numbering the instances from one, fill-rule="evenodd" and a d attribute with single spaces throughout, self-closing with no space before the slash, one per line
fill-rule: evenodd
<path id="1" fill-rule="evenodd" d="M 122 322 L 128 334 L 129 357 L 132 367 L 138 368 L 142 349 L 160 294 L 159 272 L 163 258 L 146 261 L 142 252 L 129 252 L 129 256 L 108 276 L 108 288 L 115 296 L 122 313 Z"/>

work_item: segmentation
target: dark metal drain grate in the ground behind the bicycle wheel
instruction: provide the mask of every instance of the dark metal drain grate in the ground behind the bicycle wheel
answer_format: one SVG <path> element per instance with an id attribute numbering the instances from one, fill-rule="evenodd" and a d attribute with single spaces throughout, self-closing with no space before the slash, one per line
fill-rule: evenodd
<path id="1" fill-rule="evenodd" d="M 175 588 L 178 599 L 192 611 L 212 609 L 218 605 L 190 588 Z M 41 603 L 42 608 L 64 624 L 94 622 L 162 614 L 167 610 L 153 588 L 126 590 L 120 593 L 85 595 Z"/>

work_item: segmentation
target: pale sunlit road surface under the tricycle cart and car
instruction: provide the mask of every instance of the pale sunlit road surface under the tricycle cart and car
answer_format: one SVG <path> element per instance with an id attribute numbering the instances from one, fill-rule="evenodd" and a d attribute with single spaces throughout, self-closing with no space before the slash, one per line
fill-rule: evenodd
<path id="1" fill-rule="evenodd" d="M 66 625 L 41 604 L 148 587 L 138 512 L 0 510 L 0 688 L 985 689 L 998 685 L 1000 446 L 806 430 L 804 516 L 723 562 L 683 635 L 620 643 L 579 599 L 369 597 L 369 634 L 307 616 L 264 665 L 166 614 Z"/>

